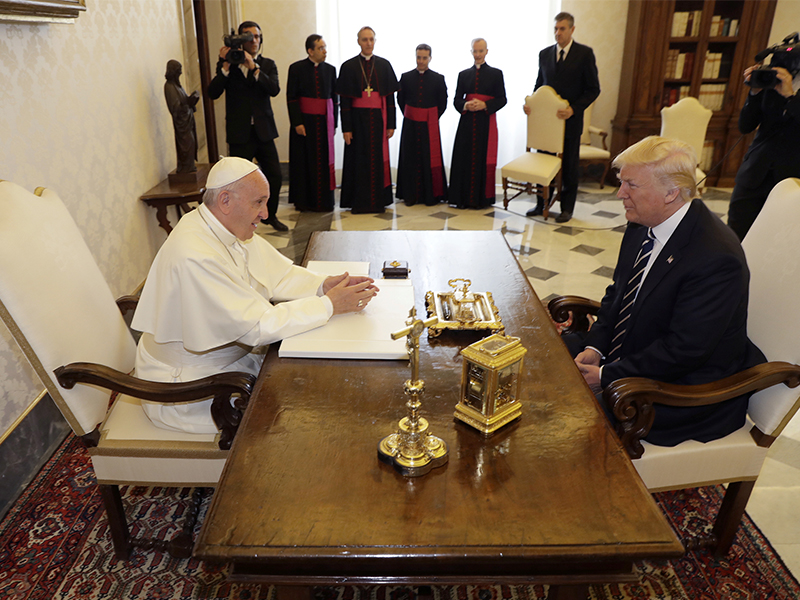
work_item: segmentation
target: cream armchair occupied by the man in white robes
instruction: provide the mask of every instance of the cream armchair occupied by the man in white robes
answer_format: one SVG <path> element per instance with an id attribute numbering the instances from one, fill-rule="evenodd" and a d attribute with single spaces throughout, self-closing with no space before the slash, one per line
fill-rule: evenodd
<path id="1" fill-rule="evenodd" d="M 119 486 L 215 486 L 254 378 L 227 373 L 164 384 L 128 375 L 136 344 L 64 203 L 50 190 L 32 194 L 8 181 L 0 181 L 0 318 L 88 448 L 115 554 L 124 559 L 139 546 L 189 556 L 194 521 L 170 542 L 133 539 Z M 110 409 L 110 392 L 101 388 L 120 393 Z M 221 435 L 159 429 L 140 400 L 209 396 Z"/>

